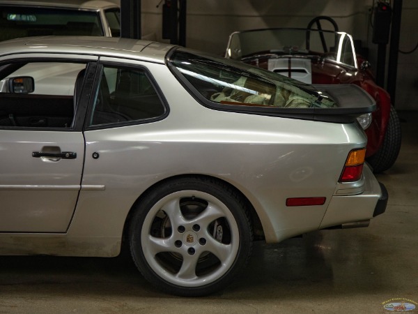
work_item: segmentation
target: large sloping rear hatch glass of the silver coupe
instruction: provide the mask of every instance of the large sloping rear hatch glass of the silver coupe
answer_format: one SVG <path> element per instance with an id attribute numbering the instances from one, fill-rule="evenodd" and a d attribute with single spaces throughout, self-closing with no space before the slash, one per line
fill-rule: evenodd
<path id="1" fill-rule="evenodd" d="M 333 107 L 334 101 L 307 84 L 282 75 L 209 55 L 178 50 L 171 63 L 199 93 L 224 105 Z"/>

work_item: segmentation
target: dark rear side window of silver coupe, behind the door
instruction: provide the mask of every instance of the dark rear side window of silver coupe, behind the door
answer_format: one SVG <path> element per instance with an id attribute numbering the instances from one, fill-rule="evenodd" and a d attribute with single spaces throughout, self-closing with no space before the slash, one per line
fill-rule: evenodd
<path id="1" fill-rule="evenodd" d="M 93 108 L 90 126 L 144 121 L 165 112 L 144 70 L 106 66 Z"/>

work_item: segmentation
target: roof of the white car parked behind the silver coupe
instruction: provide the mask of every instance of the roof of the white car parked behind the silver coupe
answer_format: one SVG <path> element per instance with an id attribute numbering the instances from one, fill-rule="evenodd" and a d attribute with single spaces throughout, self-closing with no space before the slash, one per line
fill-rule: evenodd
<path id="1" fill-rule="evenodd" d="M 118 0 L 1 0 L 0 6 L 19 5 L 19 6 L 47 6 L 54 8 L 77 8 L 84 10 L 99 10 L 106 8 L 118 8 Z"/>

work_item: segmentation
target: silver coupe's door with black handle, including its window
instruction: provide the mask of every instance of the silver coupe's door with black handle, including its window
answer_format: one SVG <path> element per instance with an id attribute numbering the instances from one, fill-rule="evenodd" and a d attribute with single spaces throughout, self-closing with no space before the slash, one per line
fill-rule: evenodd
<path id="1" fill-rule="evenodd" d="M 76 101 L 87 64 L 0 61 L 0 232 L 67 230 L 84 163 Z"/>

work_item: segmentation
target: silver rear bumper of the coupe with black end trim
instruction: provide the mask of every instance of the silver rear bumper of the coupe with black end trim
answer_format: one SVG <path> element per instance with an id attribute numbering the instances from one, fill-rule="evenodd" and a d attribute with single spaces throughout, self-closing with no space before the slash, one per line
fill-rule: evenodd
<path id="1" fill-rule="evenodd" d="M 385 212 L 388 193 L 367 165 L 364 165 L 363 192 L 357 195 L 332 197 L 319 229 L 370 220 Z"/>

